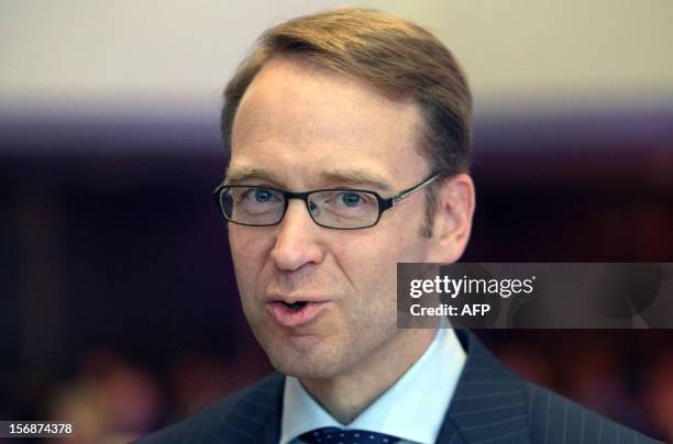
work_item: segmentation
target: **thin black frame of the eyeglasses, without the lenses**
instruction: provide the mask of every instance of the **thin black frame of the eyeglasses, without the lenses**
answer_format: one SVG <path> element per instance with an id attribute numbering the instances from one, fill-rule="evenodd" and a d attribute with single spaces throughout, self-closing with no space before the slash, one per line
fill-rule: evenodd
<path id="1" fill-rule="evenodd" d="M 378 223 L 378 221 L 380 220 L 380 217 L 383 215 L 384 211 L 389 210 L 390 208 L 395 207 L 401 200 L 404 200 L 407 197 L 411 196 L 412 193 L 415 193 L 419 189 L 421 189 L 421 188 L 432 184 L 439 177 L 440 177 L 439 174 L 432 173 L 430 176 L 428 176 L 426 179 L 421 180 L 420 182 L 418 182 L 418 184 L 416 184 L 416 185 L 413 185 L 413 186 L 411 186 L 409 188 L 406 188 L 406 189 L 401 190 L 400 192 L 398 192 L 397 195 L 391 196 L 389 198 L 383 198 L 376 191 L 364 190 L 364 189 L 355 189 L 355 188 L 345 188 L 345 187 L 344 188 L 324 188 L 324 189 L 311 190 L 311 191 L 293 192 L 293 191 L 286 191 L 286 190 L 282 190 L 282 189 L 278 189 L 278 188 L 274 188 L 274 187 L 264 187 L 264 186 L 260 186 L 260 185 L 225 185 L 225 184 L 222 184 L 222 185 L 218 186 L 212 191 L 212 196 L 214 198 L 216 206 L 218 207 L 218 209 L 220 210 L 220 212 L 222 213 L 224 219 L 228 222 L 235 223 L 238 225 L 245 225 L 245 226 L 273 226 L 273 225 L 277 225 L 280 222 L 283 222 L 283 219 L 285 219 L 285 213 L 287 212 L 287 208 L 289 206 L 289 200 L 290 199 L 299 199 L 299 200 L 304 201 L 304 203 L 306 204 L 306 209 L 307 209 L 309 215 L 311 217 L 311 220 L 318 226 L 322 226 L 323 229 L 331 229 L 331 230 L 363 230 L 363 229 L 369 229 L 369 227 L 376 225 Z M 236 221 L 233 221 L 233 220 L 229 219 L 229 217 L 227 215 L 227 212 L 224 211 L 224 208 L 222 206 L 222 198 L 221 198 L 221 196 L 222 196 L 222 193 L 224 191 L 227 191 L 228 189 L 231 189 L 231 188 L 260 188 L 260 189 L 264 189 L 264 190 L 269 190 L 269 191 L 278 192 L 279 195 L 283 196 L 283 200 L 284 200 L 284 202 L 283 202 L 284 203 L 283 214 L 280 214 L 280 218 L 278 219 L 277 222 L 265 223 L 265 224 L 243 223 L 243 222 L 236 222 Z M 376 218 L 376 220 L 371 225 L 366 225 L 366 226 L 339 227 L 339 226 L 323 225 L 320 222 L 318 222 L 316 220 L 316 218 L 313 217 L 313 213 L 311 213 L 311 209 L 309 207 L 309 196 L 315 195 L 317 192 L 324 192 L 324 191 L 353 191 L 353 192 L 367 192 L 369 195 L 374 195 L 374 197 L 378 201 L 378 217 Z"/>

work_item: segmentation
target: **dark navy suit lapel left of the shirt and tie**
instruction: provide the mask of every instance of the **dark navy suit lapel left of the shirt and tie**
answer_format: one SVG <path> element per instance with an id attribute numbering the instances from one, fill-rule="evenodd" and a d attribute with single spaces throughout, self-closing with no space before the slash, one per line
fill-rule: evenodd
<path id="1" fill-rule="evenodd" d="M 221 419 L 213 444 L 277 443 L 280 436 L 280 410 L 285 377 L 271 375 L 243 390 Z"/>

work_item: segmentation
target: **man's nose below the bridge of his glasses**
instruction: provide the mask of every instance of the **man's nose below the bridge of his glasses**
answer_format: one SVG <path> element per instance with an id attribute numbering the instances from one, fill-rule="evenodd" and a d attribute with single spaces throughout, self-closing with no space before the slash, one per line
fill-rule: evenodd
<path id="1" fill-rule="evenodd" d="M 324 251 L 317 242 L 319 230 L 324 229 L 313 222 L 306 204 L 291 199 L 271 252 L 276 267 L 283 271 L 296 271 L 306 264 L 321 263 Z"/>

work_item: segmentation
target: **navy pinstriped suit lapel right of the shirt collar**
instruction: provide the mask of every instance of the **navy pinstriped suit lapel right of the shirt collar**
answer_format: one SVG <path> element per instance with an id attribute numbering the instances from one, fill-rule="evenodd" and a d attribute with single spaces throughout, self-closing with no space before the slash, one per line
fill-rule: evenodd
<path id="1" fill-rule="evenodd" d="M 526 443 L 528 401 L 520 379 L 505 368 L 468 331 L 455 330 L 467 360 L 437 442 Z"/>

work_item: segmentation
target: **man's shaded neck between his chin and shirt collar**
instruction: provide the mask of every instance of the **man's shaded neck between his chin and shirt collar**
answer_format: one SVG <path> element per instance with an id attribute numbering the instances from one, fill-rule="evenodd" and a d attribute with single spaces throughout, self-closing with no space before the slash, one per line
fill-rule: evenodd
<path id="1" fill-rule="evenodd" d="M 399 331 L 347 374 L 329 379 L 301 379 L 302 386 L 336 421 L 353 422 L 393 386 L 426 352 L 437 329 Z"/>

